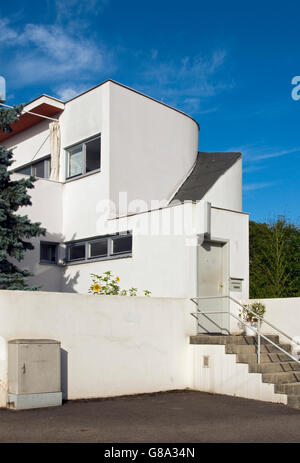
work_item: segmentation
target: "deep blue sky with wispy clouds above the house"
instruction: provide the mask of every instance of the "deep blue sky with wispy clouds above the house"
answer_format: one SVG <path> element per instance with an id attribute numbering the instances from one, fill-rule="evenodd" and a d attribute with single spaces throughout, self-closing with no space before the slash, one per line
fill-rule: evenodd
<path id="1" fill-rule="evenodd" d="M 300 224 L 299 17 L 293 0 L 1 2 L 7 103 L 117 80 L 193 116 L 199 150 L 243 153 L 252 220 Z"/>

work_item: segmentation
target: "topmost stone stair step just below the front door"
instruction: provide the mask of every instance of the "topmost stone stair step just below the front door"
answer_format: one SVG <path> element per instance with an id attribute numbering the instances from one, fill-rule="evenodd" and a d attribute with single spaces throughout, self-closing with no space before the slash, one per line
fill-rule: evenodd
<path id="1" fill-rule="evenodd" d="M 268 338 L 279 343 L 279 336 L 268 335 Z M 257 336 L 231 336 L 231 335 L 210 335 L 210 334 L 197 334 L 190 336 L 191 344 L 245 344 L 253 345 L 257 344 Z M 268 344 L 268 341 L 261 338 L 261 344 Z"/>

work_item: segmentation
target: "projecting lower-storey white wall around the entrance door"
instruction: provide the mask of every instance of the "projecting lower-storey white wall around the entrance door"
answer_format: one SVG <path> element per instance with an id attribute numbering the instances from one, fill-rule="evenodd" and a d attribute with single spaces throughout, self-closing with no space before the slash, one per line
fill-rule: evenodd
<path id="1" fill-rule="evenodd" d="M 248 215 L 212 208 L 211 218 L 212 237 L 229 240 L 228 276 L 243 278 L 242 292 L 231 295 L 247 299 Z M 109 229 L 103 229 L 103 234 L 132 230 L 132 257 L 68 265 L 64 270 L 68 289 L 62 287 L 63 291 L 85 293 L 91 284 L 91 273 L 110 270 L 120 277 L 122 288 L 148 289 L 157 297 L 197 296 L 197 234 L 204 233 L 207 226 L 203 203 L 178 205 L 109 223 Z M 169 223 L 168 231 L 165 224 Z M 160 232 L 155 234 L 157 229 Z M 73 286 L 70 281 L 74 282 Z"/>

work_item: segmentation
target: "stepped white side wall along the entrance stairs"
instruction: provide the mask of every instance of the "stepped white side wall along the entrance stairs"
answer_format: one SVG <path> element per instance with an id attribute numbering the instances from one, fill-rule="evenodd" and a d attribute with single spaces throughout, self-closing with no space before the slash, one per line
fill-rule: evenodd
<path id="1" fill-rule="evenodd" d="M 287 403 L 285 394 L 275 394 L 274 384 L 263 383 L 260 373 L 249 373 L 248 364 L 236 363 L 235 354 L 226 354 L 225 345 L 191 345 L 192 388 L 266 402 Z"/>

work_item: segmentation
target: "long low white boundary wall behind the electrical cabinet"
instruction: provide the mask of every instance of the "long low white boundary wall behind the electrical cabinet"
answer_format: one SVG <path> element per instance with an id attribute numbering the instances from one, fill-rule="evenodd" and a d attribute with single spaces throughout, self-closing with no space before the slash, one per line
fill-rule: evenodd
<path id="1" fill-rule="evenodd" d="M 0 291 L 0 406 L 7 400 L 7 342 L 55 339 L 65 398 L 190 387 L 186 299 Z"/>

